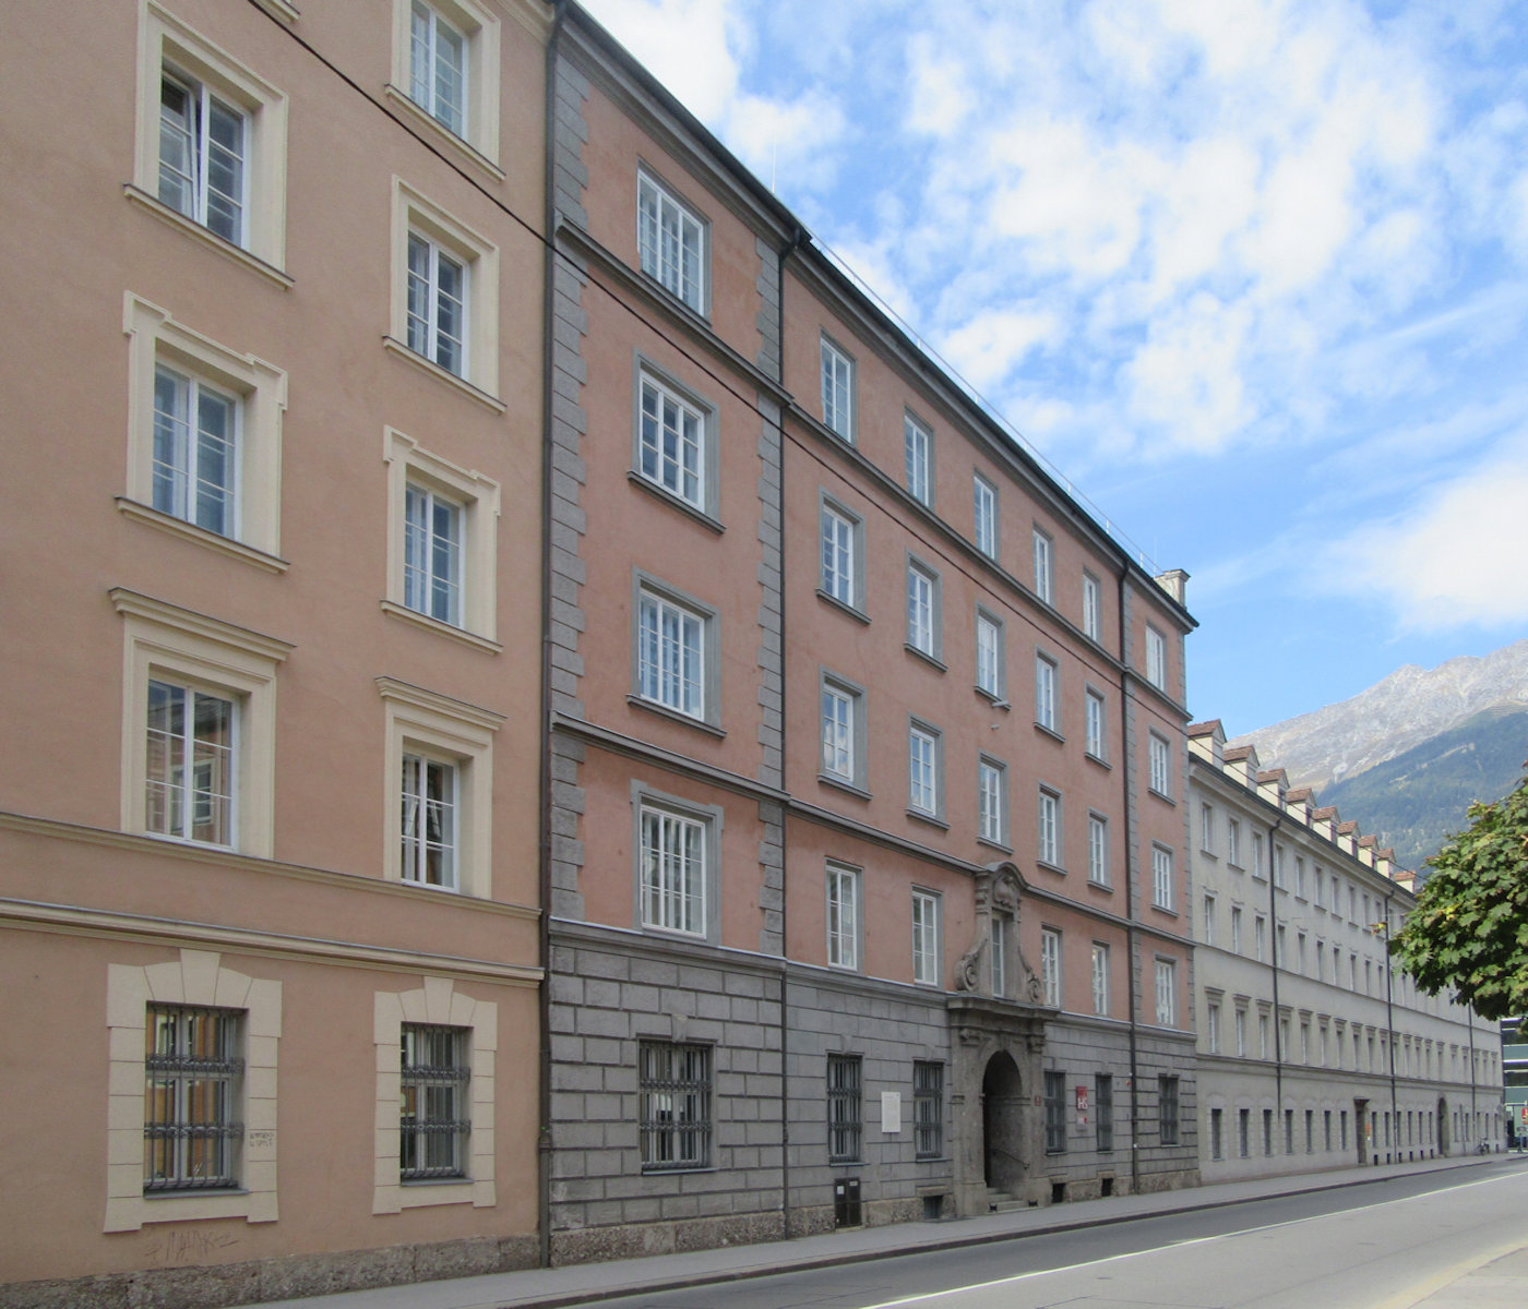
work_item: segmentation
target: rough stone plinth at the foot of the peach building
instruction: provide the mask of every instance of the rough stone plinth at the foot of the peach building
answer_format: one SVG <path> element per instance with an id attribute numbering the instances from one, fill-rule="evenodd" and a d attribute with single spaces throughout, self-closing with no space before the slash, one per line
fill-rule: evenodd
<path id="1" fill-rule="evenodd" d="M 535 1236 L 484 1236 L 338 1254 L 15 1282 L 0 1286 L 0 1304 L 6 1309 L 223 1309 L 261 1300 L 510 1272 L 535 1268 L 539 1257 Z"/>

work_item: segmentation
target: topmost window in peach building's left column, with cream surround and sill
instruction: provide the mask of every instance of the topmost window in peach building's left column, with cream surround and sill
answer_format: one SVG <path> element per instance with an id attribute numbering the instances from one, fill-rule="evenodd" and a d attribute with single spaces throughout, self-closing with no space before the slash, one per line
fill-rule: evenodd
<path id="1" fill-rule="evenodd" d="M 220 254 L 289 284 L 281 272 L 286 95 L 159 0 L 145 0 L 142 24 L 128 199 Z"/>

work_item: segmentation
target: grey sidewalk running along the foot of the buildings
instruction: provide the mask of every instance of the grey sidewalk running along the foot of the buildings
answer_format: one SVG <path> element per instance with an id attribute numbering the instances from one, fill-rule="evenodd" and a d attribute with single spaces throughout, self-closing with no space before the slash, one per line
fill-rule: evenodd
<path id="1" fill-rule="evenodd" d="M 1342 1168 L 1329 1173 L 1261 1178 L 1250 1182 L 1221 1182 L 1181 1191 L 1114 1196 L 983 1217 L 854 1228 L 764 1245 L 656 1254 L 646 1259 L 578 1263 L 568 1268 L 532 1268 L 523 1272 L 495 1272 L 486 1277 L 461 1277 L 451 1282 L 420 1282 L 411 1286 L 387 1286 L 376 1291 L 344 1291 L 335 1295 L 313 1295 L 299 1300 L 272 1300 L 266 1301 L 264 1306 L 246 1306 L 246 1309 L 532 1309 L 532 1306 L 533 1309 L 553 1309 L 553 1306 L 608 1300 L 636 1292 L 672 1291 L 685 1286 L 736 1282 L 744 1277 L 764 1277 L 773 1272 L 799 1272 L 854 1263 L 862 1259 L 914 1254 L 924 1249 L 955 1249 L 963 1245 L 979 1245 L 1019 1236 L 1042 1236 L 1157 1214 L 1224 1208 L 1248 1201 L 1323 1191 L 1334 1187 L 1383 1185 L 1387 1179 L 1403 1175 L 1476 1168 L 1499 1164 L 1504 1158 L 1507 1156 L 1470 1155 L 1418 1164 Z M 1435 1298 L 1426 1301 L 1429 1309 L 1441 1309 L 1447 1303 L 1453 1301 Z"/>

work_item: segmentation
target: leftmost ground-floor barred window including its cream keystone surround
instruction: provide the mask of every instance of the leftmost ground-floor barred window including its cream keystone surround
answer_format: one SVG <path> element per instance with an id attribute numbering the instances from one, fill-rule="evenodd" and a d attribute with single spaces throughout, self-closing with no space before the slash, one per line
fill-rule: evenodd
<path id="1" fill-rule="evenodd" d="M 102 1231 L 275 1222 L 281 982 L 235 973 L 203 950 L 107 964 L 107 1031 Z"/>

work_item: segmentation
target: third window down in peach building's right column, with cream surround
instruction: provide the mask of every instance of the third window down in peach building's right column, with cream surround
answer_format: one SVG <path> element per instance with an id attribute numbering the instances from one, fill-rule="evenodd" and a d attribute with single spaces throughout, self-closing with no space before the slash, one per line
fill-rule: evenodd
<path id="1" fill-rule="evenodd" d="M 498 483 L 382 429 L 393 617 L 498 649 Z"/>

